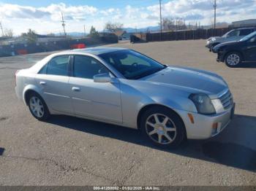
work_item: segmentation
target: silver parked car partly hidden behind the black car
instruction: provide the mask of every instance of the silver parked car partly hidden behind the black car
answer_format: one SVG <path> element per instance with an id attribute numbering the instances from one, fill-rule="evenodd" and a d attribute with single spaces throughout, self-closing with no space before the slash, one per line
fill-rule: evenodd
<path id="1" fill-rule="evenodd" d="M 256 28 L 238 28 L 228 31 L 223 36 L 214 36 L 206 40 L 206 47 L 211 51 L 216 45 L 223 42 L 238 41 L 244 36 L 256 31 Z"/>

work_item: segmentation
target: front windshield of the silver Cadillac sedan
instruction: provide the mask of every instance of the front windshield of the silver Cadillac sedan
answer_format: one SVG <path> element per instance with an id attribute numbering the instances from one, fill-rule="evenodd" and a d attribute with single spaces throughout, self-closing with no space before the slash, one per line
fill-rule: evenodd
<path id="1" fill-rule="evenodd" d="M 99 55 L 99 57 L 113 66 L 127 79 L 140 79 L 166 68 L 166 66 L 157 61 L 133 50 L 108 52 Z"/>

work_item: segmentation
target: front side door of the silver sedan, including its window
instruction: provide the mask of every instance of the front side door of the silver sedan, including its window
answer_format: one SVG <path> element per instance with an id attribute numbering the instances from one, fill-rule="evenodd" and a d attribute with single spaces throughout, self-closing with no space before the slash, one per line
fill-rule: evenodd
<path id="1" fill-rule="evenodd" d="M 95 58 L 74 55 L 69 90 L 78 116 L 122 122 L 119 82 L 94 82 L 94 75 L 110 71 Z"/>

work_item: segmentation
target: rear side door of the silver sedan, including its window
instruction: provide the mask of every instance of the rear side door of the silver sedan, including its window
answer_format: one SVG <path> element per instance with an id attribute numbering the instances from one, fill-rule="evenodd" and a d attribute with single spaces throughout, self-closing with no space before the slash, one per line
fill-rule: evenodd
<path id="1" fill-rule="evenodd" d="M 73 113 L 69 90 L 69 55 L 52 58 L 37 74 L 37 87 L 42 90 L 48 107 L 65 113 Z"/>

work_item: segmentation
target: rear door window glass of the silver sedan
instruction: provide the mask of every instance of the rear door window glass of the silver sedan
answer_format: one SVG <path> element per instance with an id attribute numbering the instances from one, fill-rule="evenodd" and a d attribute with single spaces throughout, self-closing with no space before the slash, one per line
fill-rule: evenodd
<path id="1" fill-rule="evenodd" d="M 69 55 L 55 57 L 48 62 L 46 74 L 67 76 L 68 65 Z"/>

